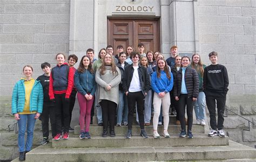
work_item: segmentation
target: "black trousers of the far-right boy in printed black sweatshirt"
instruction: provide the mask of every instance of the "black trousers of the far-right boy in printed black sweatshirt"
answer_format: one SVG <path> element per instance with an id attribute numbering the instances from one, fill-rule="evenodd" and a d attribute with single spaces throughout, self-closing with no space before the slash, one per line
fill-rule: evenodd
<path id="1" fill-rule="evenodd" d="M 216 122 L 216 103 L 217 103 L 217 111 L 218 111 L 218 124 Z M 223 98 L 214 98 L 213 96 L 206 96 L 206 105 L 207 109 L 210 113 L 210 125 L 213 130 L 217 131 L 223 129 L 224 123 L 224 110 L 226 104 L 226 95 Z"/>

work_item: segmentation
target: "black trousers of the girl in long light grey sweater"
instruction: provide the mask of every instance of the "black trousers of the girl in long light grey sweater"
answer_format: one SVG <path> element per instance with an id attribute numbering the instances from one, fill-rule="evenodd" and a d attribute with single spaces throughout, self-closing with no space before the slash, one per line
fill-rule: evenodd
<path id="1" fill-rule="evenodd" d="M 107 131 L 107 127 L 110 125 L 110 130 L 113 130 L 116 124 L 117 104 L 110 100 L 103 99 L 100 102 L 100 106 L 102 106 L 103 129 Z"/>

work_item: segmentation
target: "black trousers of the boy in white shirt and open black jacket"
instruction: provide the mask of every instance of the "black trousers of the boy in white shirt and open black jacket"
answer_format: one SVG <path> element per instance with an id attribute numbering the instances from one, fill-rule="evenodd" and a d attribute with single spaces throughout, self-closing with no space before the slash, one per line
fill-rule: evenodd
<path id="1" fill-rule="evenodd" d="M 137 112 L 139 117 L 139 125 L 140 129 L 144 129 L 144 102 L 145 96 L 143 95 L 142 91 L 139 92 L 129 92 L 127 96 L 128 100 L 128 129 L 132 129 L 132 122 L 133 122 L 133 114 L 134 114 L 134 107 L 137 103 Z"/>

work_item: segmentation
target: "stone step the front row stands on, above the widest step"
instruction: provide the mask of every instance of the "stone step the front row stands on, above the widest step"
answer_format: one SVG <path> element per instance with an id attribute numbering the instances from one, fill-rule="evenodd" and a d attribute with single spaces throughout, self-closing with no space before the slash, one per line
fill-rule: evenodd
<path id="1" fill-rule="evenodd" d="M 52 147 L 174 147 L 174 146 L 218 146 L 228 145 L 228 137 L 207 137 L 207 134 L 193 134 L 194 138 L 179 138 L 177 134 L 170 134 L 170 138 L 161 136 L 154 139 L 153 136 L 143 138 L 132 136 L 126 139 L 124 136 L 106 137 L 95 136 L 91 139 L 79 139 L 78 135 L 69 139 L 52 140 Z"/>

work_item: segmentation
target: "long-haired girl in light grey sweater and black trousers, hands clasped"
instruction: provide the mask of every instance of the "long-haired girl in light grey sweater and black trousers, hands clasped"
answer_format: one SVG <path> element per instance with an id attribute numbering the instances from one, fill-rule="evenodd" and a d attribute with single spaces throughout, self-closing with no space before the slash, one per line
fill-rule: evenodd
<path id="1" fill-rule="evenodd" d="M 114 64 L 114 58 L 106 54 L 102 65 L 96 71 L 96 83 L 98 103 L 102 106 L 103 133 L 107 136 L 107 127 L 110 124 L 110 137 L 115 137 L 114 124 L 116 120 L 116 108 L 119 103 L 119 83 L 121 82 L 121 72 Z"/>

